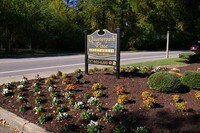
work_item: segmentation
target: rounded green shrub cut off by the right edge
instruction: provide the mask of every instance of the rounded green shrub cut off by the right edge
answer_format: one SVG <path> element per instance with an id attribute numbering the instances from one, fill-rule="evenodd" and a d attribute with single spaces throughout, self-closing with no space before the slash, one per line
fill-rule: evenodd
<path id="1" fill-rule="evenodd" d="M 199 71 L 186 71 L 181 82 L 189 88 L 200 90 L 200 72 Z"/>

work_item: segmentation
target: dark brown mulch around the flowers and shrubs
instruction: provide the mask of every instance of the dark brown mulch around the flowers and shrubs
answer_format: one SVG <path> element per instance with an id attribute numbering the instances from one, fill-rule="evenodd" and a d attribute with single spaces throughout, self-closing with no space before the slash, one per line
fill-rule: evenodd
<path id="1" fill-rule="evenodd" d="M 181 73 L 187 70 L 196 70 L 200 67 L 199 63 L 191 64 L 188 66 L 180 67 Z M 70 75 L 72 82 L 76 81 L 76 78 L 73 74 Z M 27 84 L 27 88 L 31 86 L 34 80 L 31 80 Z M 139 126 L 144 126 L 150 129 L 153 133 L 177 133 L 177 132 L 200 132 L 200 101 L 198 101 L 195 96 L 195 90 L 190 90 L 185 93 L 180 93 L 181 98 L 187 102 L 189 111 L 179 112 L 176 110 L 174 102 L 172 100 L 173 94 L 165 94 L 157 91 L 152 91 L 155 100 L 158 103 L 157 106 L 153 109 L 146 109 L 143 106 L 141 93 L 145 90 L 149 90 L 147 87 L 147 78 L 141 78 L 137 76 L 133 77 L 121 77 L 116 79 L 116 76 L 112 72 L 97 72 L 90 75 L 84 75 L 80 80 L 80 84 L 77 84 L 78 89 L 74 92 L 75 99 L 77 101 L 86 102 L 83 99 L 84 93 L 89 93 L 92 95 L 93 90 L 91 89 L 93 83 L 101 83 L 104 86 L 103 93 L 104 97 L 99 98 L 103 102 L 104 110 L 98 112 L 94 106 L 87 106 L 82 110 L 74 110 L 72 106 L 68 105 L 68 100 L 63 97 L 63 94 L 66 92 L 64 90 L 65 86 L 61 85 L 61 80 L 56 79 L 57 92 L 60 95 L 59 99 L 62 101 L 59 105 L 64 105 L 68 108 L 68 113 L 70 118 L 67 122 L 72 122 L 76 125 L 75 130 L 72 132 L 86 132 L 85 126 L 88 124 L 88 121 L 84 121 L 81 118 L 81 112 L 83 110 L 89 109 L 93 114 L 95 114 L 95 120 L 99 122 L 102 126 L 102 132 L 114 132 L 116 127 L 123 125 L 126 128 L 127 132 L 133 132 Z M 16 96 L 19 94 L 16 86 L 19 83 L 16 83 L 13 86 L 14 95 L 12 96 L 2 96 L 0 95 L 0 105 L 1 107 L 17 114 L 18 116 L 29 120 L 30 122 L 36 123 L 39 126 L 46 128 L 51 132 L 62 132 L 63 122 L 56 120 L 56 109 L 59 105 L 52 106 L 52 98 L 49 96 L 49 92 L 44 85 L 44 80 L 41 82 L 43 99 L 46 102 L 42 103 L 46 109 L 43 113 L 49 116 L 49 121 L 41 125 L 38 123 L 37 118 L 41 114 L 35 114 L 33 108 L 38 106 L 34 103 L 35 97 L 31 89 L 25 91 L 24 94 L 27 98 L 26 104 L 29 106 L 29 110 L 26 112 L 19 112 L 19 103 L 16 101 Z M 113 112 L 112 106 L 117 102 L 117 95 L 115 92 L 116 86 L 123 86 L 131 99 L 128 104 L 126 104 L 125 110 L 123 112 Z M 0 86 L 2 88 L 2 86 Z M 112 123 L 105 123 L 103 121 L 103 116 L 105 112 L 114 115 L 114 121 Z"/>

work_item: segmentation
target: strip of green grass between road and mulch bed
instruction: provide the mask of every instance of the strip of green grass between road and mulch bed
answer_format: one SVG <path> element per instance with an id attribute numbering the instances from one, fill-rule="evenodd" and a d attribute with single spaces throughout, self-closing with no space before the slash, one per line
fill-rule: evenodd
<path id="1" fill-rule="evenodd" d="M 155 61 L 146 61 L 141 63 L 132 63 L 128 65 L 123 65 L 122 67 L 127 66 L 165 66 L 165 65 L 184 65 L 185 60 L 180 58 L 169 58 L 169 59 L 161 59 Z"/>

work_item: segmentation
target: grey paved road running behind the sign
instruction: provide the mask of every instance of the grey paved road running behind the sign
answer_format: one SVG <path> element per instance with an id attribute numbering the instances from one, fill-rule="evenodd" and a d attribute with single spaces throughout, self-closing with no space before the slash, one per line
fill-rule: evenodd
<path id="1" fill-rule="evenodd" d="M 183 51 L 170 51 L 169 57 L 178 57 Z M 165 52 L 121 53 L 121 64 L 142 62 L 165 58 Z M 93 65 L 89 65 L 93 68 Z M 29 73 L 55 72 L 57 70 L 71 72 L 81 68 L 84 70 L 84 55 L 66 55 L 54 57 L 30 57 L 0 59 L 0 78 L 26 75 Z"/>

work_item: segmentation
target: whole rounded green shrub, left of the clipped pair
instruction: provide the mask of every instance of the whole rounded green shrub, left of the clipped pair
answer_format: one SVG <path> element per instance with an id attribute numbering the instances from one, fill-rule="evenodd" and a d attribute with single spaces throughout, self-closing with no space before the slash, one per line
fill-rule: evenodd
<path id="1" fill-rule="evenodd" d="M 152 74 L 148 78 L 147 85 L 150 89 L 160 92 L 179 92 L 182 86 L 180 78 L 168 72 Z"/>

